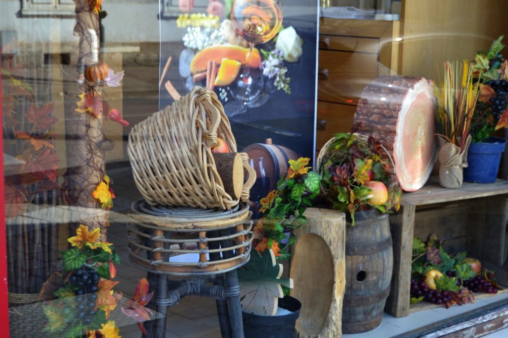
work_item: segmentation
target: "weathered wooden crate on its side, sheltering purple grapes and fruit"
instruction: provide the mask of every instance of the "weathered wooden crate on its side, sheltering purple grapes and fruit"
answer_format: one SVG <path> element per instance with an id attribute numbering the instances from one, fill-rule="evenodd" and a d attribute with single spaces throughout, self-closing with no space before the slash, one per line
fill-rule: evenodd
<path id="1" fill-rule="evenodd" d="M 467 250 L 469 257 L 496 271 L 498 283 L 508 285 L 503 254 L 508 182 L 464 183 L 460 189 L 444 189 L 437 182 L 431 178 L 422 189 L 405 193 L 401 210 L 390 216 L 394 270 L 385 311 L 394 317 L 427 309 L 409 304 L 414 236 L 426 240 L 436 233 L 446 250 Z"/>

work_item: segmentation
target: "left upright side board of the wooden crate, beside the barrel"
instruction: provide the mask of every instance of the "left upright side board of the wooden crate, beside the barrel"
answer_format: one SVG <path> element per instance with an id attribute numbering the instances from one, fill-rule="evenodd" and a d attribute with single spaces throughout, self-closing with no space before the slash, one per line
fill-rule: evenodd
<path id="1" fill-rule="evenodd" d="M 409 315 L 415 210 L 414 205 L 402 205 L 397 214 L 390 216 L 393 241 L 393 277 L 385 311 L 394 317 Z"/>

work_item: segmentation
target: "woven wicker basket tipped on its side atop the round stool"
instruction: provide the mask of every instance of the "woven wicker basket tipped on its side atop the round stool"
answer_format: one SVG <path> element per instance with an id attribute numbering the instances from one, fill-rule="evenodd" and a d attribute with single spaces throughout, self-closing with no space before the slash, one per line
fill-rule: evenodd
<path id="1" fill-rule="evenodd" d="M 230 152 L 236 141 L 217 95 L 195 87 L 164 110 L 132 128 L 129 157 L 136 185 L 150 205 L 231 210 L 239 199 L 224 189 L 211 148 L 223 139 Z M 247 201 L 256 172 L 242 153 L 248 173 L 241 200 Z"/>

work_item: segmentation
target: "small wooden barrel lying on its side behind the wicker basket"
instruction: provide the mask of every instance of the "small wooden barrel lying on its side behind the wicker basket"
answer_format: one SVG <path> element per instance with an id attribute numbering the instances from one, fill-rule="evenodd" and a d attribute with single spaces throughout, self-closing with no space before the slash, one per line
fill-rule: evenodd
<path id="1" fill-rule="evenodd" d="M 288 161 L 290 159 L 297 160 L 300 157 L 297 152 L 289 148 L 272 144 L 272 139 L 266 139 L 265 144 L 255 143 L 248 145 L 243 148 L 241 152 L 247 153 L 250 159 L 258 157 L 264 157 L 267 159 L 267 167 L 264 168 L 264 177 L 269 178 L 270 180 L 270 189 L 268 191 L 275 189 L 280 176 L 285 176 L 288 173 Z M 256 174 L 258 179 L 263 176 L 260 175 L 262 173 Z"/>

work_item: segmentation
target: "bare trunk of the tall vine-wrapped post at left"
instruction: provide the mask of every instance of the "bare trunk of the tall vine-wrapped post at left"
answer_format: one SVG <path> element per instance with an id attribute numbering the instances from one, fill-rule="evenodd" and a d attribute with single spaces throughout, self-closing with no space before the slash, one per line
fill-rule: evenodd
<path id="1" fill-rule="evenodd" d="M 92 118 L 87 113 L 76 112 L 78 97 L 82 92 L 92 93 L 93 88 L 78 84 L 78 65 L 87 64 L 91 54 L 88 28 L 99 36 L 99 17 L 90 8 L 88 0 L 76 0 L 76 27 L 79 45 L 71 52 L 70 66 L 63 75 L 65 105 L 67 193 L 74 208 L 72 219 L 87 225 L 90 229 L 101 229 L 101 241 L 106 240 L 107 212 L 92 196 L 92 191 L 102 181 L 105 174 L 105 153 L 97 146 L 104 139 L 102 119 Z"/>

